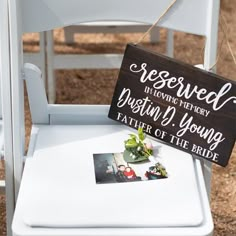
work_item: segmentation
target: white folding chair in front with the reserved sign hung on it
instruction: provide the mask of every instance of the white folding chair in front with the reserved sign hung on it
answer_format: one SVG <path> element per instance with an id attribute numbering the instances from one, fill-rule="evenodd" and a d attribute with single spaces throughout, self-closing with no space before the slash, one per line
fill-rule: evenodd
<path id="1" fill-rule="evenodd" d="M 23 67 L 23 32 L 104 19 L 151 24 L 171 1 L 162 1 L 157 8 L 152 7 L 155 0 L 150 0 L 150 5 L 136 2 L 101 0 L 95 7 L 92 0 L 60 4 L 56 0 L 9 0 L 17 188 L 21 182 L 14 235 L 211 235 L 213 223 L 206 191 L 206 187 L 210 190 L 209 165 L 203 162 L 201 166 L 191 155 L 159 144 L 163 155 L 168 154 L 167 160 L 178 156 L 178 162 L 173 158 L 165 163 L 176 181 L 170 176 L 169 184 L 150 181 L 130 185 L 133 192 L 126 193 L 132 197 L 130 201 L 122 192 L 128 185 L 96 185 L 88 172 L 93 171 L 92 153 L 122 150 L 130 130 L 107 118 L 109 106 L 48 104 L 40 70 L 32 64 Z M 177 1 L 160 26 L 205 36 L 204 68 L 209 69 L 216 58 L 218 12 L 217 0 Z M 23 79 L 33 122 L 24 171 Z M 141 204 L 137 205 L 139 200 Z"/>

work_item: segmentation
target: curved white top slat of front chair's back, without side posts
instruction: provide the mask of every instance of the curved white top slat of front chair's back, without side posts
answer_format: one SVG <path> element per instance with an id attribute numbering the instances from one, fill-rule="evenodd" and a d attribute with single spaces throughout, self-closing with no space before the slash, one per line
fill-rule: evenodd
<path id="1" fill-rule="evenodd" d="M 148 14 L 145 14 L 144 9 L 147 9 L 148 6 L 156 6 L 157 3 L 155 0 L 150 0 L 148 4 L 147 2 L 140 2 L 138 4 L 139 6 L 137 6 L 135 0 L 130 0 L 129 2 L 125 0 L 119 2 L 106 0 L 96 5 L 96 8 L 92 7 L 94 2 L 90 0 L 83 1 L 83 9 L 80 7 L 80 2 L 76 0 L 71 0 L 70 4 L 64 2 L 56 4 L 56 0 L 22 1 L 23 32 L 47 31 L 57 27 L 91 21 L 129 21 L 153 24 L 158 16 L 161 15 L 171 3 L 171 0 L 168 0 L 158 5 L 158 7 L 150 7 Z M 208 7 L 211 7 L 210 4 L 212 3 L 208 2 L 208 4 Z M 105 8 L 104 5 L 106 6 Z M 168 14 L 168 19 L 163 20 L 160 26 L 170 29 L 173 28 L 177 31 L 206 35 L 207 26 L 204 22 L 208 20 L 206 14 L 208 7 L 204 0 L 197 2 L 179 0 L 173 10 L 171 10 L 171 13 Z M 30 9 L 30 11 L 28 11 L 28 9 Z M 42 9 L 43 17 L 38 9 Z M 86 9 L 86 11 L 84 9 Z M 107 12 L 107 9 L 111 10 Z M 193 9 L 198 9 L 198 11 L 193 11 Z M 132 12 L 132 14 L 130 14 L 130 12 Z M 28 20 L 31 18 L 34 18 L 34 22 Z M 200 22 L 199 19 L 201 19 Z"/>

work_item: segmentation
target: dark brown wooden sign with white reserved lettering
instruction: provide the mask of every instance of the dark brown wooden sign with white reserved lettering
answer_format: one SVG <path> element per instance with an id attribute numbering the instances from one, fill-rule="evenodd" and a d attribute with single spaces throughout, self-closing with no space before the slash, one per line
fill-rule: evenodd
<path id="1" fill-rule="evenodd" d="M 109 117 L 226 166 L 236 136 L 236 84 L 129 44 Z"/>

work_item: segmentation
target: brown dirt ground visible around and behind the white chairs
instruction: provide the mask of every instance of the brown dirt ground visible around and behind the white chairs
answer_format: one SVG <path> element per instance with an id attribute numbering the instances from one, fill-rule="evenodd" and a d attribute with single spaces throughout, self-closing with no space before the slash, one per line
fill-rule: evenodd
<path id="1" fill-rule="evenodd" d="M 227 37 L 236 55 L 236 1 L 221 1 L 221 22 L 225 18 Z M 123 52 L 127 42 L 135 42 L 140 34 L 76 34 L 76 43 L 67 45 L 64 42 L 63 30 L 54 32 L 56 53 L 101 53 Z M 217 73 L 236 80 L 236 64 L 227 48 L 222 28 L 219 28 L 219 60 Z M 150 44 L 147 38 L 144 45 L 157 52 L 165 52 L 166 31 L 161 30 L 160 42 Z M 78 43 L 79 42 L 79 43 Z M 174 56 L 189 64 L 202 63 L 202 49 L 204 39 L 185 33 L 175 33 Z M 221 49 L 220 49 L 221 48 Z M 38 36 L 28 34 L 24 36 L 24 50 L 32 52 L 38 50 Z M 85 103 L 109 104 L 116 83 L 118 70 L 60 70 L 56 71 L 57 103 Z M 96 79 L 93 79 L 96 78 Z M 93 88 L 93 89 L 91 89 Z M 26 103 L 26 136 L 28 139 L 31 120 L 29 108 Z M 4 162 L 0 161 L 0 179 L 4 178 Z M 236 235 L 236 147 L 234 148 L 229 165 L 226 168 L 213 165 L 211 209 L 215 224 L 215 236 Z M 0 195 L 0 236 L 6 235 L 5 225 L 5 196 Z"/>

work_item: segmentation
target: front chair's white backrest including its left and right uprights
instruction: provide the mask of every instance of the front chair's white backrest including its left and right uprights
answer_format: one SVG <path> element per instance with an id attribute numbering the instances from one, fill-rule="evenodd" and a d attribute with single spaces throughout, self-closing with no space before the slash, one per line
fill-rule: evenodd
<path id="1" fill-rule="evenodd" d="M 153 24 L 172 0 L 9 0 L 14 158 L 24 153 L 23 32 L 39 32 L 90 21 Z M 215 62 L 219 0 L 177 0 L 159 26 L 206 37 L 204 67 Z M 20 179 L 19 172 L 18 178 Z"/>

